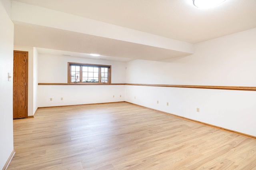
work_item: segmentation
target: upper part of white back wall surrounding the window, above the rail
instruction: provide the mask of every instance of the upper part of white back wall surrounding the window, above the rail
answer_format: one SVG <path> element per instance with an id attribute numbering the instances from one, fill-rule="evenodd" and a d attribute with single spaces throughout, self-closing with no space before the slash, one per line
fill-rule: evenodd
<path id="1" fill-rule="evenodd" d="M 126 63 L 101 59 L 86 59 L 61 55 L 39 54 L 38 82 L 39 83 L 67 83 L 68 62 L 111 65 L 111 83 L 125 83 Z"/>

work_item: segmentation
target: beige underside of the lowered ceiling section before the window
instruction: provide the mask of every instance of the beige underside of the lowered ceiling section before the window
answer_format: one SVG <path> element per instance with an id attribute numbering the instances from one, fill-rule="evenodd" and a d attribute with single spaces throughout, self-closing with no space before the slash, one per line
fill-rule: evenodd
<path id="1" fill-rule="evenodd" d="M 114 61 L 130 61 L 132 59 L 161 61 L 169 59 L 170 56 L 189 55 L 189 53 L 182 51 L 150 45 L 114 40 L 34 24 L 14 23 L 15 45 L 40 47 L 38 52 L 44 54 L 49 54 L 49 51 L 51 51 L 55 55 L 70 55 L 68 51 L 72 51 L 72 57 L 86 57 L 88 56 L 86 53 L 97 53 L 101 55 L 101 58 Z M 56 51 L 53 49 L 56 49 Z M 79 53 L 84 53 L 84 55 L 80 55 Z"/>

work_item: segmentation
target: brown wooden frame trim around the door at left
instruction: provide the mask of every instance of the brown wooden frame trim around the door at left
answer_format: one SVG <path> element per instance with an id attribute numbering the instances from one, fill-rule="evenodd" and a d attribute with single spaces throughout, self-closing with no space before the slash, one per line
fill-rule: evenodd
<path id="1" fill-rule="evenodd" d="M 25 82 L 26 82 L 26 87 L 25 87 L 25 118 L 28 118 L 28 51 L 17 51 L 14 50 L 13 53 L 25 53 L 26 54 L 26 75 L 25 75 Z M 14 77 L 13 77 L 14 78 Z M 13 96 L 13 94 L 12 94 Z"/>

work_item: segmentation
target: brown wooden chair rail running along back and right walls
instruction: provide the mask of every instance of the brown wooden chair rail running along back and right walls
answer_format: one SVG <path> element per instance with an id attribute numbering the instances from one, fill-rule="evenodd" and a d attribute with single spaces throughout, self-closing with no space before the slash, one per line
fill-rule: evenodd
<path id="1" fill-rule="evenodd" d="M 38 83 L 38 85 L 85 85 L 85 84 Z M 130 84 L 130 83 L 86 84 L 86 85 L 140 85 L 140 86 L 154 86 L 154 87 L 180 87 L 180 88 L 194 88 L 194 89 L 221 89 L 221 90 L 256 91 L 256 87 L 247 87 L 247 86 L 159 85 L 159 84 Z"/>

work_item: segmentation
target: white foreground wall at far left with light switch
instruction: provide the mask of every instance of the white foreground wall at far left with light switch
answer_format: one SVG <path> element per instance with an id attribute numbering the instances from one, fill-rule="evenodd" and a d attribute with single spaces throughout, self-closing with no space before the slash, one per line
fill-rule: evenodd
<path id="1" fill-rule="evenodd" d="M 13 150 L 12 83 L 14 26 L 10 20 L 10 0 L 0 0 L 0 169 Z"/>

